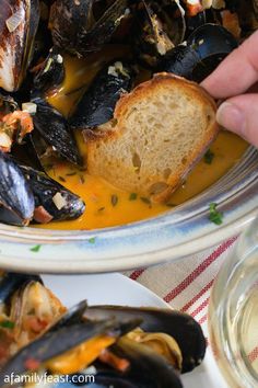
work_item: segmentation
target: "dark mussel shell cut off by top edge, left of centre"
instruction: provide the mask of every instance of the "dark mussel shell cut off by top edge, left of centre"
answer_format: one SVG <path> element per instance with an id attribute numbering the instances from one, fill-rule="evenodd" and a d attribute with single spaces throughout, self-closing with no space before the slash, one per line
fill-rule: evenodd
<path id="1" fill-rule="evenodd" d="M 79 57 L 98 50 L 110 41 L 127 9 L 127 0 L 112 4 L 98 0 L 57 0 L 49 20 L 54 43 Z"/>

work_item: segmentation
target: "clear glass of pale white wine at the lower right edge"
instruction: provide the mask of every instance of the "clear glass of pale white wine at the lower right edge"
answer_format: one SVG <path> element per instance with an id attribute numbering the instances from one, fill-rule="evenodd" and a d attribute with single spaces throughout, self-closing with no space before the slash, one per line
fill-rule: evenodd
<path id="1" fill-rule="evenodd" d="M 210 342 L 232 388 L 258 387 L 258 218 L 238 238 L 215 279 Z"/>

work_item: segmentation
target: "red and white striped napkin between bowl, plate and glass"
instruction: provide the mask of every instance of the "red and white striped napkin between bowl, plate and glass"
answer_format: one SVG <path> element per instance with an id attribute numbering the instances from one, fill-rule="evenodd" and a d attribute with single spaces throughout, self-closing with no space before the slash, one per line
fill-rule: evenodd
<path id="1" fill-rule="evenodd" d="M 233 237 L 219 247 L 174 263 L 125 274 L 154 292 L 173 308 L 190 313 L 201 326 L 206 326 L 212 284 L 236 239 Z"/>

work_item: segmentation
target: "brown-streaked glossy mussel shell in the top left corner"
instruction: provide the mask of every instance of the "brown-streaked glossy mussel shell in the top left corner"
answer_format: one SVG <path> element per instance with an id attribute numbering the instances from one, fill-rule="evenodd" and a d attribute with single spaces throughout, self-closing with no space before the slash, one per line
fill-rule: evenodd
<path id="1" fill-rule="evenodd" d="M 38 0 L 1 1 L 0 87 L 19 89 L 32 59 L 39 21 Z"/>

